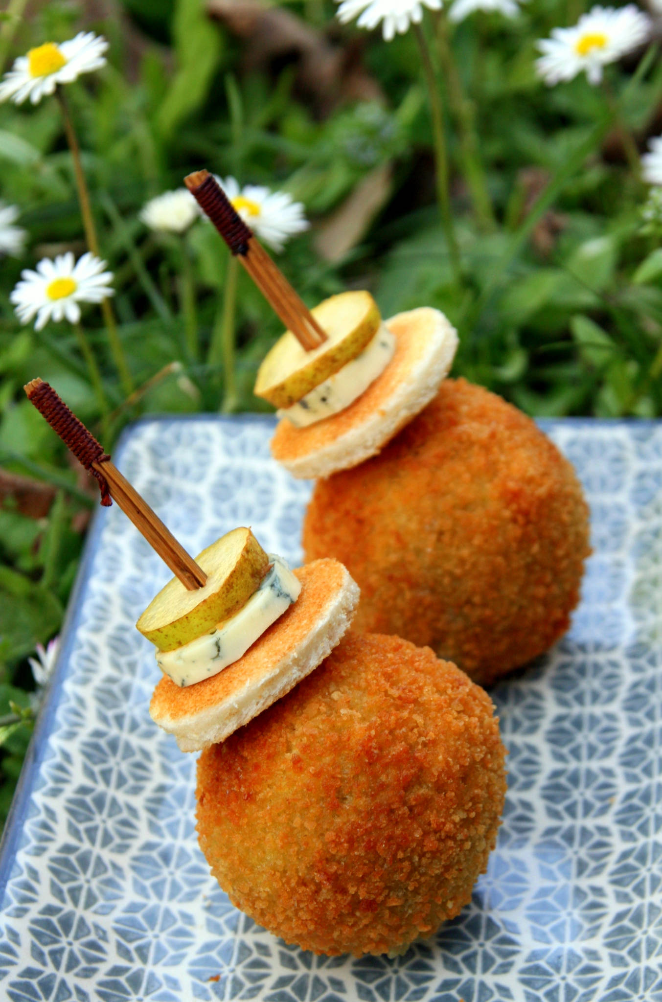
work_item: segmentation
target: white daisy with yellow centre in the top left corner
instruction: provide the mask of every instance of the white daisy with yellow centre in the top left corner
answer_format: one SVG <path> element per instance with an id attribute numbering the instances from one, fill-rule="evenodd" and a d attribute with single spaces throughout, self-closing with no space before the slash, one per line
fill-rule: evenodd
<path id="1" fill-rule="evenodd" d="M 58 83 L 71 83 L 81 73 L 91 73 L 105 65 L 103 53 L 108 42 L 91 31 L 79 31 L 67 42 L 46 42 L 19 56 L 0 82 L 0 101 L 9 98 L 22 104 L 28 97 L 37 104 L 52 94 Z"/>

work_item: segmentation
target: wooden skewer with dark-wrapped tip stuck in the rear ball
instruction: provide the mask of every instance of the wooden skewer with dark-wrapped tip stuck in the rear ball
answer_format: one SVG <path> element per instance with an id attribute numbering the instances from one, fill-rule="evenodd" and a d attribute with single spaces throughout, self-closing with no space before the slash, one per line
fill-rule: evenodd
<path id="1" fill-rule="evenodd" d="M 184 183 L 239 259 L 264 299 L 306 352 L 326 340 L 326 335 L 280 269 L 269 258 L 208 170 L 195 170 Z"/>

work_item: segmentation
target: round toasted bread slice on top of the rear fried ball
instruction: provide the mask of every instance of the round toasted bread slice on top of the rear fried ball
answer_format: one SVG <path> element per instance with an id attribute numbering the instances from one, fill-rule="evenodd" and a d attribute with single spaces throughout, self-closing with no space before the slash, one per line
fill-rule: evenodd
<path id="1" fill-rule="evenodd" d="M 426 407 L 448 375 L 458 335 L 443 313 L 422 307 L 398 314 L 393 359 L 381 376 L 339 414 L 305 428 L 286 418 L 271 439 L 271 455 L 298 478 L 328 477 L 380 452 Z"/>

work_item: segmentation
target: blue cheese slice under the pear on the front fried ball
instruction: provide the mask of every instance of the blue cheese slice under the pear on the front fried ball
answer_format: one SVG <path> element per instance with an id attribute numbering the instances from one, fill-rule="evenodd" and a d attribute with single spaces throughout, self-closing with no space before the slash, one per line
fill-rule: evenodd
<path id="1" fill-rule="evenodd" d="M 210 633 L 176 650 L 156 651 L 156 663 L 177 685 L 193 685 L 243 657 L 248 647 L 298 598 L 301 585 L 282 557 L 272 563 L 245 605 Z"/>

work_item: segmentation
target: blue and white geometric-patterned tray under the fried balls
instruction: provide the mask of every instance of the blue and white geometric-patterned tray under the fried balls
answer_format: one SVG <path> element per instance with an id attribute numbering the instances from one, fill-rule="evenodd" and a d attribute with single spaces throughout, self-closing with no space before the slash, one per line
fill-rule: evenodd
<path id="1" fill-rule="evenodd" d="M 120 466 L 189 550 L 235 525 L 297 562 L 307 484 L 269 419 L 134 426 Z M 662 424 L 546 425 L 593 513 L 571 632 L 495 691 L 510 748 L 473 904 L 397 960 L 314 957 L 235 911 L 193 828 L 194 758 L 149 719 L 133 628 L 168 572 L 97 512 L 0 868 L 0 996 L 65 1002 L 662 1000 Z"/>

